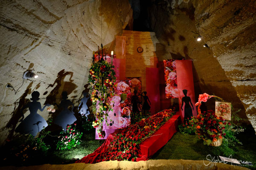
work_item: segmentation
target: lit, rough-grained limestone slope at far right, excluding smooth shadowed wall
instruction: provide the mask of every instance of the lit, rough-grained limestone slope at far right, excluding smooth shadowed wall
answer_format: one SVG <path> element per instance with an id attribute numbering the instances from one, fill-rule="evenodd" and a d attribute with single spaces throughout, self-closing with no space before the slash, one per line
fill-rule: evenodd
<path id="1" fill-rule="evenodd" d="M 256 1 L 192 2 L 196 28 L 225 71 L 256 130 Z"/>

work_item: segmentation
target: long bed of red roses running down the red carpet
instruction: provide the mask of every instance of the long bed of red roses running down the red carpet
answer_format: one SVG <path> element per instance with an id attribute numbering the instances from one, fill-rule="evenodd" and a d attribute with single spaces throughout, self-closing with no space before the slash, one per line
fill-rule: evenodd
<path id="1" fill-rule="evenodd" d="M 136 161 L 140 143 L 151 136 L 174 114 L 175 112 L 172 109 L 164 110 L 147 119 L 142 119 L 134 125 L 125 127 L 118 133 L 114 133 L 113 140 L 107 150 L 97 159 L 97 162 L 110 160 Z"/>

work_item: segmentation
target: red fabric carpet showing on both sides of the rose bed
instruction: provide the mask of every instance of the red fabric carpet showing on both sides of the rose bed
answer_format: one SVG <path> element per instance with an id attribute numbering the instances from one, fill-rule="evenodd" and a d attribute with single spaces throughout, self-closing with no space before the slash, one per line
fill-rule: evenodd
<path id="1" fill-rule="evenodd" d="M 154 155 L 154 153 L 157 152 L 157 150 L 163 147 L 172 138 L 173 134 L 177 132 L 176 129 L 179 123 L 179 118 L 179 113 L 172 116 L 172 118 L 169 119 L 168 122 L 166 122 L 162 127 L 160 127 L 152 136 L 140 144 L 137 161 L 148 160 L 151 156 Z M 112 140 L 113 135 L 110 134 L 98 149 L 76 161 L 76 163 L 95 164 L 98 156 L 105 152 Z"/>

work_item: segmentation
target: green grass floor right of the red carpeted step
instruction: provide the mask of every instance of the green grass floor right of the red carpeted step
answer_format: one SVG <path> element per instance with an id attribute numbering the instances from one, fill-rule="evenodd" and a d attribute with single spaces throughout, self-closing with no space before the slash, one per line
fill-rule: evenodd
<path id="1" fill-rule="evenodd" d="M 250 161 L 253 166 L 245 166 L 249 169 L 256 170 L 256 137 L 250 138 L 245 135 L 240 136 L 243 145 L 230 147 L 227 141 L 224 141 L 221 146 L 207 146 L 203 144 L 202 139 L 198 139 L 196 135 L 183 135 L 177 132 L 172 136 L 172 139 L 163 146 L 151 159 L 187 159 L 187 160 L 207 160 L 215 156 L 214 160 L 218 160 L 218 156 L 229 157 L 241 161 Z M 207 157 L 207 155 L 211 155 Z M 221 159 L 219 159 L 221 161 Z"/>

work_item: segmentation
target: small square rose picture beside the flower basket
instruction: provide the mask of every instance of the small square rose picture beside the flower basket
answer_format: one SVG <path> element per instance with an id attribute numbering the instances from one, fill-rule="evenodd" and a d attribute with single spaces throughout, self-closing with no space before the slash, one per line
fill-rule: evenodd
<path id="1" fill-rule="evenodd" d="M 231 103 L 215 102 L 215 115 L 225 120 L 231 120 Z"/>

